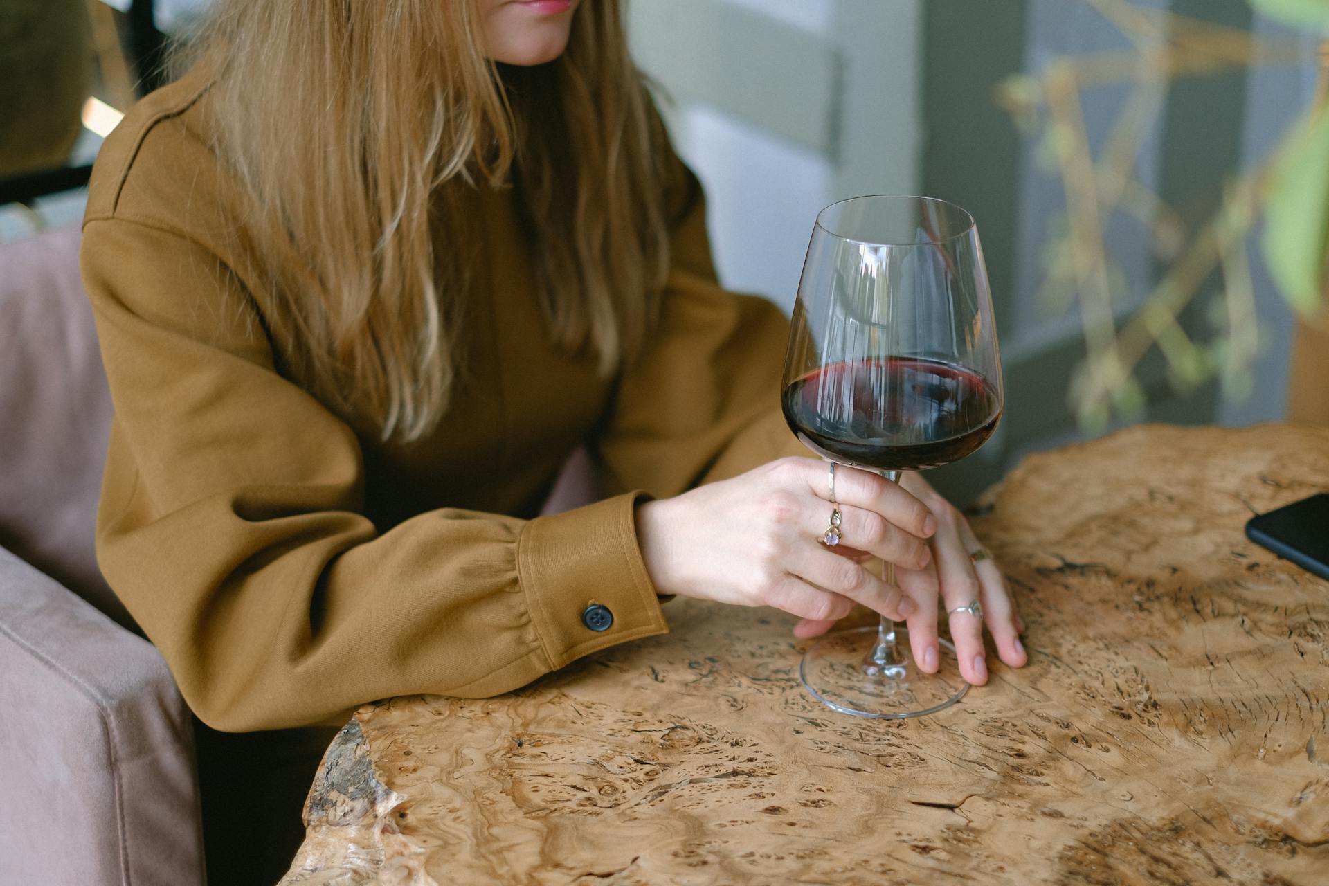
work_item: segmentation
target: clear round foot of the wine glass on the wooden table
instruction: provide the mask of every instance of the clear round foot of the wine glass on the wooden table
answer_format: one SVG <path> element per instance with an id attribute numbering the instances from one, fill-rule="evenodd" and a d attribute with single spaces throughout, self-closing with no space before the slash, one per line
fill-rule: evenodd
<path id="1" fill-rule="evenodd" d="M 909 632 L 896 626 L 897 643 L 908 650 Z M 969 684 L 960 676 L 956 647 L 938 640 L 941 665 L 936 673 L 924 673 L 909 659 L 904 677 L 873 676 L 864 668 L 864 658 L 877 639 L 877 627 L 857 627 L 828 634 L 803 655 L 799 677 L 813 699 L 832 711 L 872 720 L 908 720 L 936 713 L 960 701 Z M 896 671 L 901 665 L 893 665 Z"/>

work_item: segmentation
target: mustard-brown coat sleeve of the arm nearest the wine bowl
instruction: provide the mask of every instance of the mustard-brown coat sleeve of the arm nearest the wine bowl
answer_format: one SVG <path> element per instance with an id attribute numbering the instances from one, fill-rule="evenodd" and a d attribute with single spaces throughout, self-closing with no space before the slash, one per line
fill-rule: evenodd
<path id="1" fill-rule="evenodd" d="M 594 444 L 610 489 L 657 497 L 809 456 L 780 410 L 788 319 L 767 299 L 719 284 L 700 185 L 678 167 L 683 210 L 659 323 L 622 373 Z"/>

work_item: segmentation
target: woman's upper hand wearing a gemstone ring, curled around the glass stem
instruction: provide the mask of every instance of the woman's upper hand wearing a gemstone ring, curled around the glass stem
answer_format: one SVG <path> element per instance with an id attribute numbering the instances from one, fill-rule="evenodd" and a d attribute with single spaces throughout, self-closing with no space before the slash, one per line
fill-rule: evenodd
<path id="1" fill-rule="evenodd" d="M 637 525 L 651 580 L 662 594 L 792 612 L 815 626 L 804 636 L 825 631 L 855 603 L 908 618 L 910 627 L 930 606 L 936 636 L 936 579 L 929 604 L 918 580 L 901 590 L 863 561 L 870 554 L 894 563 L 901 575 L 934 574 L 928 539 L 938 531 L 938 518 L 909 491 L 867 470 L 840 468 L 835 491 L 840 530 L 856 549 L 848 555 L 820 542 L 831 521 L 831 490 L 825 462 L 812 458 L 781 458 L 647 502 L 637 509 Z"/>

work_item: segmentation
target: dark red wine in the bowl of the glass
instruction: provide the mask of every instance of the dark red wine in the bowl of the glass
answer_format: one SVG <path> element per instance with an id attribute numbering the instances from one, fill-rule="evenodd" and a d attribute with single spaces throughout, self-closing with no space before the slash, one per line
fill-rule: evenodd
<path id="1" fill-rule="evenodd" d="M 836 363 L 785 385 L 784 420 L 823 458 L 872 470 L 924 470 L 983 445 L 1001 418 L 977 372 L 924 357 Z"/>

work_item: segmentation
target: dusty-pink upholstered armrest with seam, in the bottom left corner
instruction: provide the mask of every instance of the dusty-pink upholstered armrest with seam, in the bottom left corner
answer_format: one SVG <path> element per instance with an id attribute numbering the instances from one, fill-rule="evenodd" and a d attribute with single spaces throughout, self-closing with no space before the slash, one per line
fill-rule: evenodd
<path id="1" fill-rule="evenodd" d="M 202 883 L 189 712 L 161 654 L 0 547 L 0 883 Z"/>

